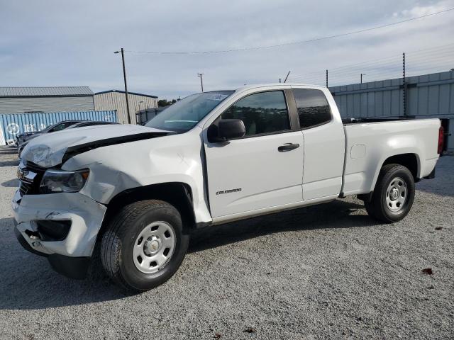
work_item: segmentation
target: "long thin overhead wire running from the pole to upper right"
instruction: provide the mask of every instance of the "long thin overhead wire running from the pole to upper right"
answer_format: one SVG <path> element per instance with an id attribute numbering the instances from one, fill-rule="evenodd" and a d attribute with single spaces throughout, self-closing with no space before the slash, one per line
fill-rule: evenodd
<path id="1" fill-rule="evenodd" d="M 394 23 L 387 23 L 387 24 L 384 24 L 384 25 L 375 26 L 375 27 L 372 27 L 372 28 L 364 28 L 362 30 L 354 30 L 352 32 L 341 33 L 341 34 L 336 34 L 336 35 L 327 35 L 325 37 L 312 38 L 312 39 L 309 39 L 309 40 L 300 40 L 300 41 L 294 41 L 294 42 L 284 42 L 282 44 L 277 44 L 277 45 L 267 45 L 267 46 L 257 46 L 257 47 L 243 47 L 243 48 L 236 48 L 236 49 L 231 49 L 231 50 L 213 50 L 213 51 L 179 51 L 179 52 L 151 51 L 150 52 L 150 51 L 132 51 L 132 50 L 127 50 L 125 52 L 129 52 L 129 53 L 145 53 L 145 54 L 150 54 L 150 55 L 203 55 L 203 54 L 214 54 L 214 53 L 243 52 L 243 51 L 249 51 L 249 50 L 264 50 L 264 49 L 267 49 L 267 48 L 284 47 L 284 46 L 289 46 L 289 45 L 299 45 L 299 44 L 304 44 L 304 43 L 307 43 L 307 42 L 315 42 L 315 41 L 319 41 L 319 40 L 326 40 L 326 39 L 332 39 L 332 38 L 345 37 L 346 35 L 364 33 L 364 32 L 368 32 L 370 30 L 377 30 L 377 29 L 380 29 L 380 28 L 385 28 L 385 27 L 389 27 L 389 26 L 395 26 L 395 25 L 399 25 L 400 23 L 407 23 L 409 21 L 414 21 L 414 20 L 417 20 L 417 19 L 426 18 L 428 16 L 435 16 L 436 14 L 441 14 L 441 13 L 445 13 L 445 12 L 453 11 L 453 10 L 454 10 L 454 7 L 445 9 L 443 11 L 438 11 L 438 12 L 434 12 L 434 13 L 430 13 L 430 14 L 425 14 L 423 16 L 416 16 L 414 18 L 409 18 L 409 19 L 405 19 L 405 20 L 402 20 L 402 21 L 396 21 Z"/>

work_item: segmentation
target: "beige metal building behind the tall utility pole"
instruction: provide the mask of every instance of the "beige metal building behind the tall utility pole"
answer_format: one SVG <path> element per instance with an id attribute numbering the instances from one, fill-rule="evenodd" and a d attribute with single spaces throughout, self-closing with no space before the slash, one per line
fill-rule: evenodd
<path id="1" fill-rule="evenodd" d="M 96 111 L 116 110 L 118 123 L 128 124 L 126 98 L 124 91 L 109 90 L 94 94 L 94 109 Z M 129 112 L 131 124 L 136 124 L 136 113 L 147 108 L 157 108 L 157 96 L 137 94 L 128 91 Z"/>

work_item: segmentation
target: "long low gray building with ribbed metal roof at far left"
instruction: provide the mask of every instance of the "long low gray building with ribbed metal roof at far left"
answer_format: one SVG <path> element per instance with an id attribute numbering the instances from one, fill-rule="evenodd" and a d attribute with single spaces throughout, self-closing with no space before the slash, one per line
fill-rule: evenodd
<path id="1" fill-rule="evenodd" d="M 0 114 L 93 111 L 88 86 L 0 87 Z"/>

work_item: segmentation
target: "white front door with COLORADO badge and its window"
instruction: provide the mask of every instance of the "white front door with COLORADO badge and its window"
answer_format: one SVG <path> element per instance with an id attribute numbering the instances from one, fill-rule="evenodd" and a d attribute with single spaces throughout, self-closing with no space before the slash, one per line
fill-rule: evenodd
<path id="1" fill-rule="evenodd" d="M 243 120 L 246 133 L 205 141 L 212 217 L 301 202 L 304 140 L 299 127 L 291 129 L 285 92 L 245 96 L 219 119 Z"/>

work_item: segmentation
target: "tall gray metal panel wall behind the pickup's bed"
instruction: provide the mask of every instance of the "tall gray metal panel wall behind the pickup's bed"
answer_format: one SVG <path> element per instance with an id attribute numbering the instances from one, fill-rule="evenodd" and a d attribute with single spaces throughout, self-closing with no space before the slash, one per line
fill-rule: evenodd
<path id="1" fill-rule="evenodd" d="M 404 117 L 402 79 L 331 87 L 343 118 Z M 454 118 L 454 72 L 406 78 L 406 115 Z"/>

